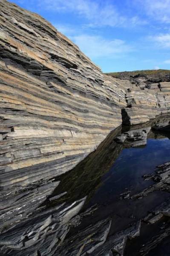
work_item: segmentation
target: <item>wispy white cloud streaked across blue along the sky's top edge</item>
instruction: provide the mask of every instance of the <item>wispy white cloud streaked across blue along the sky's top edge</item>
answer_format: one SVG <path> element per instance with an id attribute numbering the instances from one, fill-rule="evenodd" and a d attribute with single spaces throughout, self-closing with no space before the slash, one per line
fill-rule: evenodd
<path id="1" fill-rule="evenodd" d="M 94 0 L 38 0 L 39 7 L 56 12 L 73 12 L 88 20 L 92 27 L 100 26 L 135 26 L 146 24 L 136 15 L 121 15 L 111 1 Z"/>

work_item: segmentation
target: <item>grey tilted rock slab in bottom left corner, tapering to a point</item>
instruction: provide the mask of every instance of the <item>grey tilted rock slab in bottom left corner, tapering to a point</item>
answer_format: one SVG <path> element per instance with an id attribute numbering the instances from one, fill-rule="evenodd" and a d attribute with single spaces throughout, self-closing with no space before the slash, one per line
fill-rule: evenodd
<path id="1" fill-rule="evenodd" d="M 84 202 L 85 198 L 82 198 L 72 204 L 63 203 L 44 211 L 39 209 L 30 214 L 29 221 L 22 218 L 15 224 L 14 232 L 9 229 L 0 235 L 1 255 L 55 255 L 69 232 L 71 219 Z"/>

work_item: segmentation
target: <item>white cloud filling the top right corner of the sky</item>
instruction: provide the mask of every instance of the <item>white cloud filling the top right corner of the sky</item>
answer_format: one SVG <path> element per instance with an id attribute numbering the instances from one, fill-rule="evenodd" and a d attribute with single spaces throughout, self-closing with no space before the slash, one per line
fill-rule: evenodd
<path id="1" fill-rule="evenodd" d="M 137 4 L 153 19 L 170 23 L 170 0 L 137 0 Z"/>

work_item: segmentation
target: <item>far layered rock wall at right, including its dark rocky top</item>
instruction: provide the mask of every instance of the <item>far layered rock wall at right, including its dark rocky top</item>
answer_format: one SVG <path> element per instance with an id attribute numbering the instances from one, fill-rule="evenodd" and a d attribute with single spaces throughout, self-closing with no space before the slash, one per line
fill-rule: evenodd
<path id="1" fill-rule="evenodd" d="M 127 108 L 122 111 L 125 125 L 148 122 L 170 112 L 170 71 L 151 72 L 151 75 L 143 72 L 135 76 L 125 72 L 117 76 L 130 82 L 125 95 Z"/>

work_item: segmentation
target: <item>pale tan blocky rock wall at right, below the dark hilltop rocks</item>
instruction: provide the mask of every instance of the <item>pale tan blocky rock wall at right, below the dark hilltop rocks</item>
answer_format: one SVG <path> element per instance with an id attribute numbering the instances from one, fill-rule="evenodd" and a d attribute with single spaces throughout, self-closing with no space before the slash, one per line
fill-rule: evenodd
<path id="1" fill-rule="evenodd" d="M 144 80 L 141 79 L 143 83 Z M 148 122 L 159 114 L 170 112 L 170 82 L 162 82 L 156 86 L 154 85 L 154 89 L 146 83 L 144 87 L 141 87 L 140 83 L 136 82 L 127 89 L 127 108 L 122 112 L 123 123 L 125 125 Z"/>

